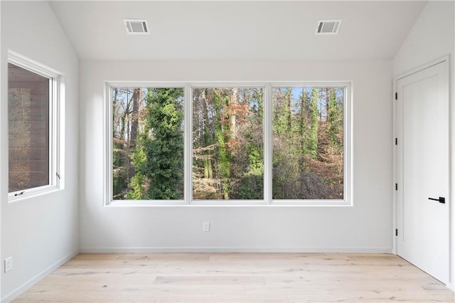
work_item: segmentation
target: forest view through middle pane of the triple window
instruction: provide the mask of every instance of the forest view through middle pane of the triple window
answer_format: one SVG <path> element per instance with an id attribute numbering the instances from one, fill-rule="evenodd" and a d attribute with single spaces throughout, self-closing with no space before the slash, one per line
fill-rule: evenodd
<path id="1" fill-rule="evenodd" d="M 193 200 L 264 199 L 264 90 L 193 87 Z"/>

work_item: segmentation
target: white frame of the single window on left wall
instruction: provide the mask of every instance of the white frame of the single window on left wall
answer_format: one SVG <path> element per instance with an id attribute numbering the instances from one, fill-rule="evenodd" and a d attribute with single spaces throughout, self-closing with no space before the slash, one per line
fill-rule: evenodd
<path id="1" fill-rule="evenodd" d="M 63 85 L 62 76 L 55 70 L 11 51 L 8 53 L 8 63 L 49 79 L 49 184 L 8 193 L 9 202 L 16 202 L 63 188 L 63 181 L 61 180 L 63 175 L 60 171 L 62 168 L 60 159 L 60 154 L 62 154 L 60 151 L 60 102 L 63 99 L 64 92 L 63 87 L 61 87 Z"/>

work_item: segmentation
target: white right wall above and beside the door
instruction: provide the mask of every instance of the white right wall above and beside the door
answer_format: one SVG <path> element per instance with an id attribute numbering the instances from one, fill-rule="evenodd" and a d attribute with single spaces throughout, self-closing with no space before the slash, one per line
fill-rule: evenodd
<path id="1" fill-rule="evenodd" d="M 455 2 L 430 1 L 417 19 L 407 39 L 402 43 L 393 60 L 393 74 L 400 75 L 408 70 L 450 55 L 451 92 L 451 267 L 450 285 L 455 284 Z"/>

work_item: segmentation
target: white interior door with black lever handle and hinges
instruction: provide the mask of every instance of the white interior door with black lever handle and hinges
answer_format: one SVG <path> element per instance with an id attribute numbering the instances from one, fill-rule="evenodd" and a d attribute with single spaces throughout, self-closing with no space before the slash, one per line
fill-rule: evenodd
<path id="1" fill-rule="evenodd" d="M 395 82 L 397 255 L 444 283 L 449 281 L 448 66 L 442 59 Z"/>

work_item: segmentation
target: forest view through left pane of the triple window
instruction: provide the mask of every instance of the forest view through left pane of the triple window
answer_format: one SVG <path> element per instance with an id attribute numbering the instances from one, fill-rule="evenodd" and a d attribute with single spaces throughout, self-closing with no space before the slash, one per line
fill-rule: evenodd
<path id="1" fill-rule="evenodd" d="M 183 200 L 183 88 L 112 87 L 112 200 Z"/>

